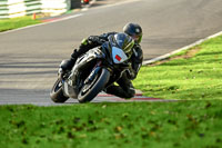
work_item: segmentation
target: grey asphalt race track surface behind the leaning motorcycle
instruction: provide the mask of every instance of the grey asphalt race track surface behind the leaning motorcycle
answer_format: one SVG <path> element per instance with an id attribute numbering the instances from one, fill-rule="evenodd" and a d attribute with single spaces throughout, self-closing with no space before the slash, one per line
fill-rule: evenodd
<path id="1" fill-rule="evenodd" d="M 49 91 L 60 61 L 90 34 L 121 31 L 127 22 L 138 22 L 143 28 L 141 46 L 148 60 L 222 30 L 221 0 L 102 2 L 63 16 L 68 17 L 63 21 L 0 33 L 0 105 L 54 105 Z"/>

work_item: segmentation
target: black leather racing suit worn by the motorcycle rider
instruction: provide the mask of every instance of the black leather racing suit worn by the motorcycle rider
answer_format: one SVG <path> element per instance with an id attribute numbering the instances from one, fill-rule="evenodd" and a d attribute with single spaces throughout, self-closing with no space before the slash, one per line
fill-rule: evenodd
<path id="1" fill-rule="evenodd" d="M 88 39 L 83 39 L 82 43 L 80 45 L 79 49 L 74 49 L 73 53 L 71 55 L 71 59 L 69 60 L 69 63 L 64 67 L 61 66 L 63 69 L 71 69 L 77 60 L 77 58 L 90 49 L 101 46 L 101 40 L 108 41 L 108 37 L 111 34 L 115 34 L 117 32 L 108 32 L 103 33 L 101 36 L 90 36 Z M 132 98 L 135 95 L 135 90 L 133 88 L 133 85 L 131 80 L 135 79 L 140 67 L 142 65 L 143 60 L 143 52 L 140 47 L 140 45 L 134 45 L 133 47 L 133 55 L 131 56 L 131 66 L 132 70 L 131 72 L 125 71 L 122 77 L 117 81 L 119 86 L 111 85 L 108 87 L 104 91 L 107 93 L 111 93 L 114 96 L 118 96 L 120 98 Z"/>

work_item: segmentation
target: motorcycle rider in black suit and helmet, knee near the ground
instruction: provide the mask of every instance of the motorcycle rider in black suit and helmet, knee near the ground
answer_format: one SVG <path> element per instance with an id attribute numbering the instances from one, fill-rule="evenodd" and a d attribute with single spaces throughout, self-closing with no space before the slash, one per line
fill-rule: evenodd
<path id="1" fill-rule="evenodd" d="M 120 98 L 132 98 L 135 95 L 135 90 L 131 80 L 137 78 L 143 60 L 143 52 L 140 46 L 142 40 L 142 28 L 137 23 L 128 23 L 123 27 L 123 32 L 129 34 L 135 42 L 130 58 L 131 69 L 123 72 L 122 77 L 117 81 L 119 86 L 113 83 L 104 89 L 104 91 Z M 88 39 L 83 39 L 79 49 L 73 50 L 71 58 L 61 63 L 60 72 L 63 73 L 65 70 L 71 70 L 79 56 L 85 53 L 92 48 L 101 46 L 104 41 L 108 41 L 109 36 L 114 36 L 115 33 L 117 32 L 108 32 L 101 36 L 90 36 Z"/>

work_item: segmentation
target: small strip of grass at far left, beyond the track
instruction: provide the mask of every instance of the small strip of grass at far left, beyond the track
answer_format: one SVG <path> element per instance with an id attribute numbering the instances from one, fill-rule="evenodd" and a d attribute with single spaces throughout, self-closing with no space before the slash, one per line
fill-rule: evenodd
<path id="1" fill-rule="evenodd" d="M 0 20 L 0 32 L 21 28 L 21 27 L 27 27 L 31 24 L 37 24 L 40 22 L 41 22 L 40 20 L 32 20 L 31 17 L 3 19 L 3 20 Z"/>

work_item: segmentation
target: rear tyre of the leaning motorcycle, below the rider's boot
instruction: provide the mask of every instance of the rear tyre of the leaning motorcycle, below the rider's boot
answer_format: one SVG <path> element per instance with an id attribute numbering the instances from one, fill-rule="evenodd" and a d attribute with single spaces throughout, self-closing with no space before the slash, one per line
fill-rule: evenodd
<path id="1" fill-rule="evenodd" d="M 60 79 L 58 79 L 54 82 L 54 86 L 52 87 L 50 91 L 50 98 L 52 99 L 53 102 L 65 102 L 69 99 L 68 97 L 63 95 L 62 83 Z"/>

